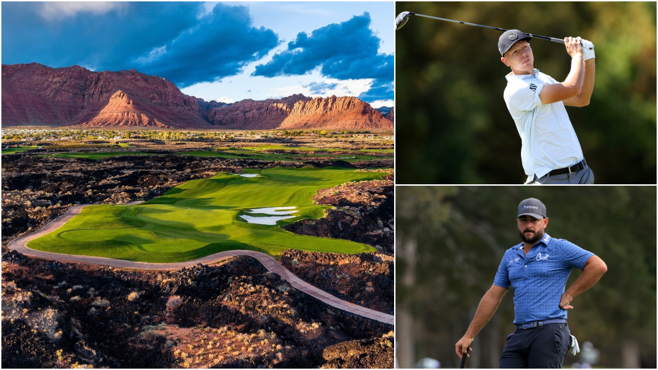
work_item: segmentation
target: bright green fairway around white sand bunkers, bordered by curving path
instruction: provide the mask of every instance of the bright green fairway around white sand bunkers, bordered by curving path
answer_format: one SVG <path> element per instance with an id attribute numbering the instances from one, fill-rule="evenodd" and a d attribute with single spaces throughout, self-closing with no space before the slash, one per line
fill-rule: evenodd
<path id="1" fill-rule="evenodd" d="M 386 173 L 310 167 L 250 172 L 260 176 L 218 173 L 176 186 L 143 204 L 88 206 L 59 230 L 29 242 L 28 247 L 144 262 L 181 262 L 232 249 L 275 257 L 289 248 L 336 253 L 375 250 L 348 240 L 300 236 L 278 225 L 246 223 L 239 215 L 252 208 L 297 206 L 297 217 L 279 221 L 279 225 L 319 218 L 327 207 L 312 204 L 317 190 L 354 180 L 376 180 Z"/>

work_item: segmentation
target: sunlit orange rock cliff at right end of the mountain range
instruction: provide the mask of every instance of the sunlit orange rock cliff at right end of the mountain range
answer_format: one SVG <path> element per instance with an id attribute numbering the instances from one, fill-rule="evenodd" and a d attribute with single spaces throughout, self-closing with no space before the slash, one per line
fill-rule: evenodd
<path id="1" fill-rule="evenodd" d="M 392 129 L 393 123 L 355 97 L 317 97 L 297 101 L 281 123 L 284 129 L 367 130 Z"/>

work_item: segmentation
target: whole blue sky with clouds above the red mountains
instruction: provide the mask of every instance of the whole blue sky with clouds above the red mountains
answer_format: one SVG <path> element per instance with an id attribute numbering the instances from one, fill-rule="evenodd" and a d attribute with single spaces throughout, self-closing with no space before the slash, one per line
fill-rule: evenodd
<path id="1" fill-rule="evenodd" d="M 136 69 L 206 101 L 393 106 L 393 2 L 3 2 L 2 63 Z"/>

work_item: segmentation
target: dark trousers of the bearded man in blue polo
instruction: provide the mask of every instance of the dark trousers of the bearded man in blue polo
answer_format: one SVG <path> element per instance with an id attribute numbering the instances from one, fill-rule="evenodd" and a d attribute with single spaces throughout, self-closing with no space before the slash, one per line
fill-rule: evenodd
<path id="1" fill-rule="evenodd" d="M 550 323 L 531 329 L 517 329 L 507 336 L 500 369 L 561 369 L 571 348 L 567 324 Z"/>

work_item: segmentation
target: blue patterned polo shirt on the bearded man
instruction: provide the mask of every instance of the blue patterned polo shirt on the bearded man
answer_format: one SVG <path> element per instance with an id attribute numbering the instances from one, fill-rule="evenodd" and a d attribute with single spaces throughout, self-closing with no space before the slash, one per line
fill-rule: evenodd
<path id="1" fill-rule="evenodd" d="M 566 319 L 559 304 L 571 270 L 583 269 L 592 252 L 544 234 L 523 254 L 523 243 L 505 251 L 493 284 L 514 289 L 514 323 Z"/>

